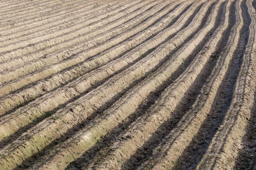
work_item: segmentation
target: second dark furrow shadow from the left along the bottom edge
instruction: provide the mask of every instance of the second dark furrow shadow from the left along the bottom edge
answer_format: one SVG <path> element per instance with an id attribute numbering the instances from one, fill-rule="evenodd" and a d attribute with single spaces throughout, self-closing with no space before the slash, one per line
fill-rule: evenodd
<path id="1" fill-rule="evenodd" d="M 211 11 L 210 9 L 212 9 L 212 7 L 214 6 L 214 4 L 212 4 L 212 6 L 210 6 L 209 10 L 207 11 L 207 14 L 209 14 L 209 12 Z M 195 16 L 195 15 L 193 15 Z M 208 16 L 208 15 L 206 15 Z M 206 17 L 207 19 L 207 17 Z M 206 19 L 204 19 L 204 22 L 206 22 Z M 192 18 L 190 18 L 190 20 L 192 20 Z M 204 24 L 203 24 L 204 25 Z M 203 27 L 200 26 L 200 28 Z M 196 32 L 198 32 L 200 29 L 198 29 Z M 192 36 L 188 37 L 188 39 L 186 40 L 186 42 L 191 39 Z M 205 43 L 205 42 L 204 42 Z M 184 45 L 184 44 L 183 44 Z M 183 46 L 182 45 L 182 46 Z M 126 140 L 126 138 L 120 138 L 118 136 L 122 136 L 124 133 L 126 133 L 126 129 L 128 129 L 128 127 L 134 122 L 134 120 L 136 120 L 138 117 L 140 116 L 148 116 L 148 111 L 151 107 L 151 105 L 154 105 L 154 103 L 156 102 L 156 100 L 160 97 L 160 95 L 162 94 L 162 92 L 175 80 L 177 79 L 177 77 L 180 76 L 180 74 L 183 73 L 183 71 L 186 70 L 186 68 L 189 66 L 189 64 L 192 62 L 195 54 L 197 54 L 202 47 L 197 48 L 195 51 L 193 51 L 194 55 L 190 55 L 186 60 L 184 60 L 184 62 L 182 63 L 182 65 L 180 65 L 180 67 L 177 69 L 177 71 L 175 71 L 174 74 L 172 74 L 171 77 L 169 77 L 169 79 L 167 79 L 159 88 L 157 88 L 157 90 L 151 92 L 147 99 L 145 99 L 145 101 L 143 101 L 142 104 L 140 104 L 139 108 L 137 109 L 136 112 L 134 112 L 133 114 L 131 114 L 130 116 L 128 116 L 127 119 L 125 119 L 124 121 L 122 121 L 121 124 L 119 124 L 116 128 L 114 128 L 113 130 L 111 130 L 110 132 L 107 133 L 107 135 L 102 136 L 102 138 L 93 146 L 91 147 L 89 150 L 87 150 L 83 156 L 81 156 L 79 159 L 76 159 L 75 161 L 73 161 L 68 167 L 67 169 L 73 169 L 73 168 L 81 168 L 81 167 L 87 167 L 89 164 L 91 164 L 92 160 L 93 164 L 96 165 L 98 163 L 101 162 L 102 159 L 104 159 L 104 157 L 106 157 L 108 154 L 110 154 L 113 150 L 111 148 L 111 146 L 113 145 L 114 142 L 116 142 L 116 140 Z M 175 51 L 176 52 L 176 51 Z M 172 53 L 174 54 L 174 53 Z M 170 54 L 171 55 L 171 54 Z M 204 75 L 205 76 L 205 75 Z M 206 75 L 207 76 L 207 75 Z M 132 169 L 134 169 L 135 167 L 137 167 L 137 165 L 132 165 L 130 166 Z M 127 168 L 127 167 L 126 167 Z M 126 169 L 125 168 L 125 169 Z"/>

